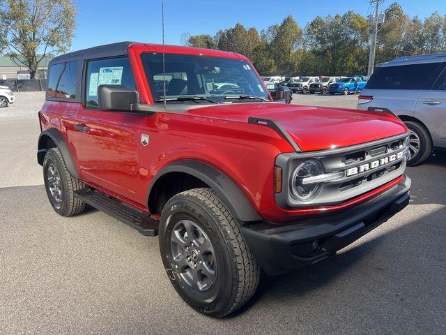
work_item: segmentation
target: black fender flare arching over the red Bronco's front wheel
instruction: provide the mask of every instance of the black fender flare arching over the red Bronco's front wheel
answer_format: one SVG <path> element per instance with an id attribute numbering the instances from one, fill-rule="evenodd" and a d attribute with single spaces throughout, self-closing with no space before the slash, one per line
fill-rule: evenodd
<path id="1" fill-rule="evenodd" d="M 245 222 L 261 220 L 261 217 L 254 210 L 249 200 L 247 200 L 245 194 L 240 191 L 240 188 L 232 179 L 212 165 L 190 159 L 182 159 L 170 163 L 156 174 L 151 182 L 151 186 L 148 188 L 146 204 L 149 204 L 151 197 L 155 196 L 153 194 L 155 192 L 152 193 L 153 186 L 156 185 L 157 181 L 164 174 L 170 172 L 183 172 L 203 181 L 224 201 L 234 218 Z"/>

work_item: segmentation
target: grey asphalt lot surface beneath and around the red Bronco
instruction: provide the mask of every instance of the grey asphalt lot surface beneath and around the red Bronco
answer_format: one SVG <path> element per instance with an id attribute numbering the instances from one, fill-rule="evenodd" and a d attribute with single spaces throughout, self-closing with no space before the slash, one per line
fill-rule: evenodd
<path id="1" fill-rule="evenodd" d="M 29 108 L 20 98 L 14 107 Z M 355 107 L 354 96 L 317 98 Z M 263 276 L 245 308 L 215 320 L 178 297 L 156 238 L 94 209 L 54 213 L 36 112 L 0 110 L 0 334 L 446 334 L 445 154 L 408 168 L 397 216 L 337 256 Z"/>

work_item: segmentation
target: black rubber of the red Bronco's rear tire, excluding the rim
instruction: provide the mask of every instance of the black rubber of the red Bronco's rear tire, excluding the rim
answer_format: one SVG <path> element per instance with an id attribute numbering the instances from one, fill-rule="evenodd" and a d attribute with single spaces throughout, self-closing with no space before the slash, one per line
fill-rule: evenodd
<path id="1" fill-rule="evenodd" d="M 50 181 L 48 180 L 48 169 L 56 168 L 60 177 L 61 185 L 61 203 L 56 204 L 52 191 L 50 191 Z M 61 151 L 58 148 L 52 148 L 47 151 L 43 159 L 43 180 L 45 181 L 45 190 L 49 203 L 54 211 L 61 216 L 73 216 L 82 213 L 85 209 L 85 202 L 75 196 L 75 191 L 85 187 L 82 181 L 75 179 L 68 172 Z"/>

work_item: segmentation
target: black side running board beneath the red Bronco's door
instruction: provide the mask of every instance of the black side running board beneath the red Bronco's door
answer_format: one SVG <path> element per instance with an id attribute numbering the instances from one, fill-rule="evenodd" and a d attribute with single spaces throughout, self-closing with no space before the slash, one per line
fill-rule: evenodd
<path id="1" fill-rule="evenodd" d="M 139 209 L 130 207 L 116 198 L 89 188 L 75 191 L 75 194 L 77 198 L 100 211 L 104 211 L 126 225 L 130 225 L 143 235 L 157 236 L 158 234 L 158 221 L 148 216 L 144 211 L 139 211 Z"/>

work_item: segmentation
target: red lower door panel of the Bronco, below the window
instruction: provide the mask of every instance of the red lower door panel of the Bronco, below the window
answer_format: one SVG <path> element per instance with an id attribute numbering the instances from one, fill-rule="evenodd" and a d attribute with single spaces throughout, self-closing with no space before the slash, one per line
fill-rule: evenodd
<path id="1" fill-rule="evenodd" d="M 84 181 L 136 200 L 142 119 L 134 114 L 79 109 L 72 141 Z"/>

